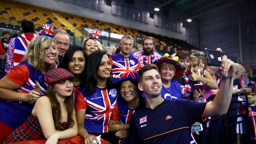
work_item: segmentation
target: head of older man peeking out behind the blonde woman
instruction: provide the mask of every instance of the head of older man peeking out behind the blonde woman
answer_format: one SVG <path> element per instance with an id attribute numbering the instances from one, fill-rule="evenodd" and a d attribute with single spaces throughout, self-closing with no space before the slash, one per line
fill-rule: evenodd
<path id="1" fill-rule="evenodd" d="M 52 35 L 56 41 L 56 47 L 59 50 L 59 61 L 61 61 L 62 57 L 69 48 L 70 36 L 65 30 L 60 28 L 54 30 Z"/>

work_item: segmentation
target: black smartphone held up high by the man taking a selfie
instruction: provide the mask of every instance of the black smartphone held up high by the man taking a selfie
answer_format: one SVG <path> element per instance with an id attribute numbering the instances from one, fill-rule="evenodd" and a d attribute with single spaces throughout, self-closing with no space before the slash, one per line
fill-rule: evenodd
<path id="1" fill-rule="evenodd" d="M 222 52 L 211 50 L 208 48 L 204 49 L 204 54 L 208 66 L 221 66 Z"/>

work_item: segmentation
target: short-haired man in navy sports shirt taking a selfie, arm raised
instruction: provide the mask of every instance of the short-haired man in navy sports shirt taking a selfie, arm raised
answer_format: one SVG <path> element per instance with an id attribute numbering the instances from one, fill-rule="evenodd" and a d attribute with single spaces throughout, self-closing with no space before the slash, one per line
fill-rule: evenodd
<path id="1" fill-rule="evenodd" d="M 218 48 L 217 51 L 221 49 Z M 157 66 L 148 64 L 142 67 L 137 75 L 138 88 L 144 92 L 147 104 L 132 116 L 130 142 L 189 144 L 191 126 L 196 121 L 227 112 L 232 97 L 234 62 L 223 55 L 219 72 L 221 84 L 215 99 L 212 102 L 199 103 L 184 99 L 163 99 Z"/>

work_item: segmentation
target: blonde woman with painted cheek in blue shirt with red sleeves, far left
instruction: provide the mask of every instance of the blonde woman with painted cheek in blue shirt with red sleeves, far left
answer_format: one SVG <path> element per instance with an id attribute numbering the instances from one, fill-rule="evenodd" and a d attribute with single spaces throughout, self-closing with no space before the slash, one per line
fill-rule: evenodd
<path id="1" fill-rule="evenodd" d="M 0 143 L 26 121 L 34 102 L 45 94 L 48 86 L 45 73 L 58 62 L 55 45 L 52 33 L 34 37 L 27 47 L 24 61 L 0 80 Z M 41 85 L 41 91 L 34 90 L 36 82 Z"/>

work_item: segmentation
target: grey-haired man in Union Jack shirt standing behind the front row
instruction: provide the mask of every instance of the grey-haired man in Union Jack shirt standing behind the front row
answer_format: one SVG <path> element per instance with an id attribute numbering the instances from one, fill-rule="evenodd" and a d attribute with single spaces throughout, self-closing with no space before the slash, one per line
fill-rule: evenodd
<path id="1" fill-rule="evenodd" d="M 133 46 L 133 38 L 130 35 L 124 35 L 119 43 L 120 53 L 110 56 L 112 73 L 121 75 L 127 71 L 139 70 L 138 60 L 130 55 Z"/>

